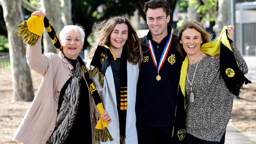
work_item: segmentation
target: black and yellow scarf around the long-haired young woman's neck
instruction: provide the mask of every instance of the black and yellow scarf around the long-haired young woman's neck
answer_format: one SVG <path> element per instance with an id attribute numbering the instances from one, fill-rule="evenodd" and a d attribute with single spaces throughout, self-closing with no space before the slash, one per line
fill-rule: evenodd
<path id="1" fill-rule="evenodd" d="M 98 73 L 100 87 L 104 85 L 104 76 L 108 66 L 115 61 L 115 55 L 108 46 L 98 46 L 91 61 L 90 78 Z M 94 68 L 92 69 L 92 66 Z M 125 144 L 126 132 L 126 112 L 127 112 L 127 52 L 122 50 L 121 55 L 121 78 L 120 78 L 120 96 L 119 96 L 119 131 L 120 144 Z"/>

